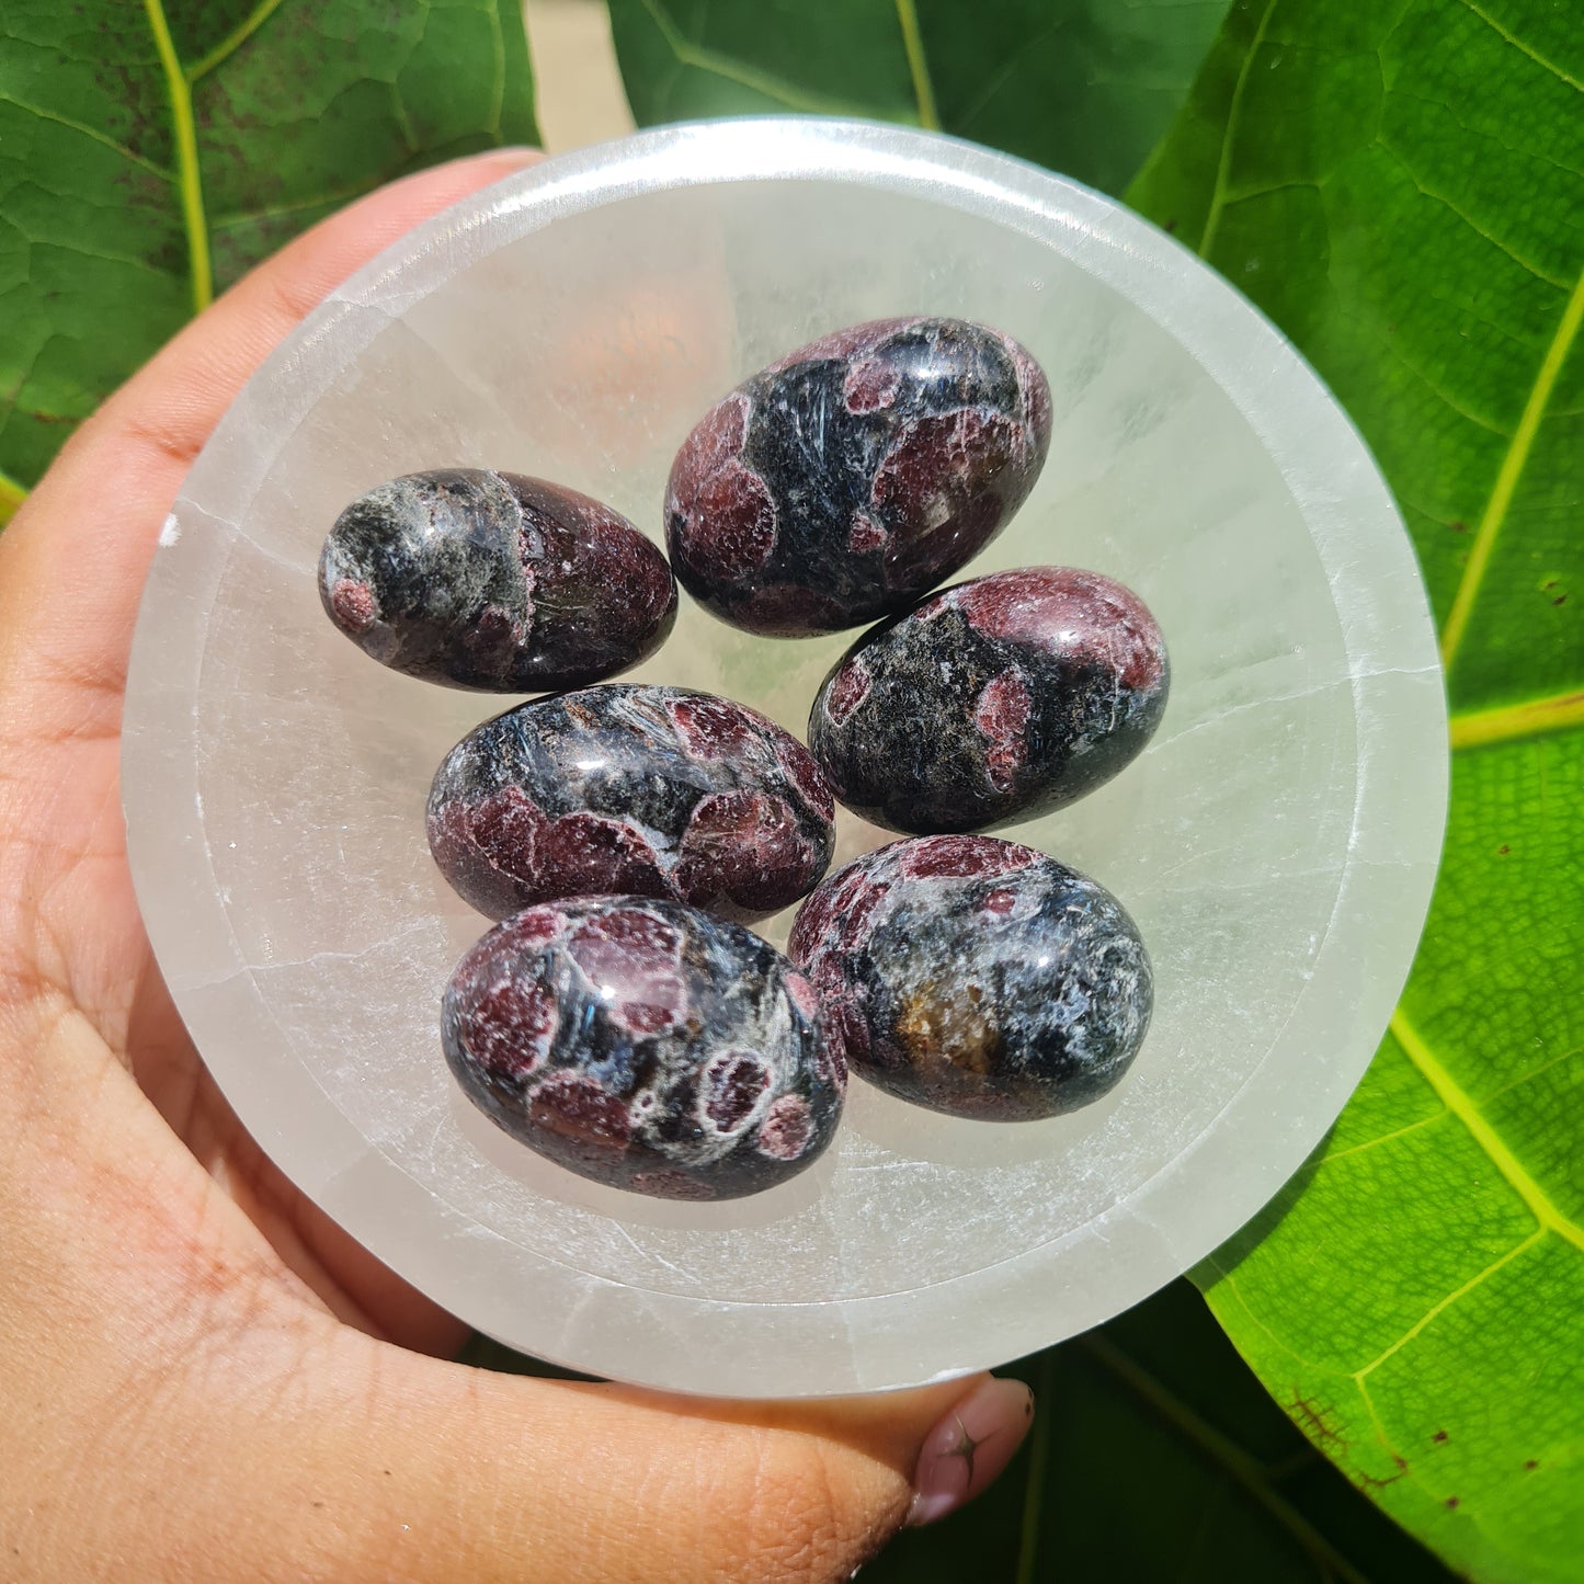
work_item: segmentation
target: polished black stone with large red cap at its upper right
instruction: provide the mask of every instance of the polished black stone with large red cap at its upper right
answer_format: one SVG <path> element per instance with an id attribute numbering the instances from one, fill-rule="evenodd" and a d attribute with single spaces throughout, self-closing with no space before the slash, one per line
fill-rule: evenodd
<path id="1" fill-rule="evenodd" d="M 1161 629 L 1096 572 L 995 572 L 865 634 L 809 711 L 851 809 L 917 835 L 1063 808 L 1148 743 L 1171 670 Z"/>

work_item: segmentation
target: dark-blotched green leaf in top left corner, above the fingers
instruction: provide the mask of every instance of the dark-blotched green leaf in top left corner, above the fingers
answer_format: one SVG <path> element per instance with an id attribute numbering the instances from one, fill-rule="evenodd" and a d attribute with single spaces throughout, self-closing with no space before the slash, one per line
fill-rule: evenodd
<path id="1" fill-rule="evenodd" d="M 421 165 L 534 138 L 512 0 L 8 0 L 0 521 L 287 238 Z"/>

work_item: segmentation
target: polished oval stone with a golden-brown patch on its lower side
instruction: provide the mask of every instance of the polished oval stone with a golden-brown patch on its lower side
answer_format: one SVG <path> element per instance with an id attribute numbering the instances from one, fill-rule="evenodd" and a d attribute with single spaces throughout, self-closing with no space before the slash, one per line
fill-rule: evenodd
<path id="1" fill-rule="evenodd" d="M 863 854 L 803 904 L 789 952 L 854 1072 L 985 1121 L 1098 1099 L 1137 1055 L 1153 1004 L 1121 903 L 995 836 Z"/>

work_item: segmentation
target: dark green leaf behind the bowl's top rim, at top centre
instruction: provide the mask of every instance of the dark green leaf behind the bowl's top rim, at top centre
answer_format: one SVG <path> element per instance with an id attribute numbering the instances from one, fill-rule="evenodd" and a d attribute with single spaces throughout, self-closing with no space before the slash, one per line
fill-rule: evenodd
<path id="1" fill-rule="evenodd" d="M 1118 192 L 1228 0 L 610 0 L 640 125 L 813 111 L 944 128 Z"/>

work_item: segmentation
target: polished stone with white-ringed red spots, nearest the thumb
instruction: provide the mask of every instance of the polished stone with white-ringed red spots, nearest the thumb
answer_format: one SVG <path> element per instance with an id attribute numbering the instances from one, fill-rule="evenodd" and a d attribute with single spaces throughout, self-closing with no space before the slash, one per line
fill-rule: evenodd
<path id="1" fill-rule="evenodd" d="M 846 1069 L 814 988 L 740 925 L 678 903 L 531 908 L 458 965 L 440 1020 L 467 1098 L 613 1188 L 735 1199 L 830 1144 Z"/>

